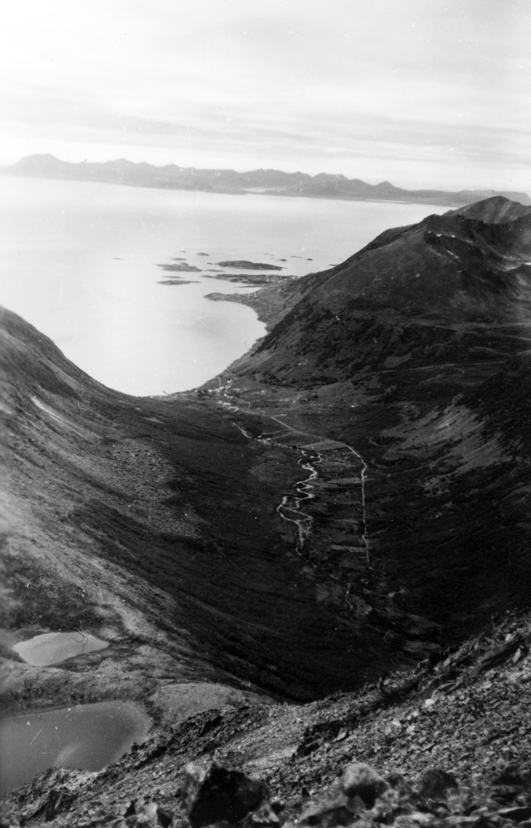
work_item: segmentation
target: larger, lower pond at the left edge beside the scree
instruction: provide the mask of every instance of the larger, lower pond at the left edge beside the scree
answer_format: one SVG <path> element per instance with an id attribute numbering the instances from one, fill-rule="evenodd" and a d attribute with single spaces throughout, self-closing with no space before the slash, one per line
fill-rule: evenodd
<path id="1" fill-rule="evenodd" d="M 98 771 L 146 736 L 151 720 L 130 701 L 102 701 L 0 719 L 0 793 L 47 768 Z"/>

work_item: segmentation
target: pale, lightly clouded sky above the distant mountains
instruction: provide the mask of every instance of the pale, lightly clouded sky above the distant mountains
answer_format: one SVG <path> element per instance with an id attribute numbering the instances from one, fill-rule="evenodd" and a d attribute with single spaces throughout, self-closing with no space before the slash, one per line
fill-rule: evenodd
<path id="1" fill-rule="evenodd" d="M 531 0 L 17 0 L 0 165 L 36 152 L 531 193 Z"/>

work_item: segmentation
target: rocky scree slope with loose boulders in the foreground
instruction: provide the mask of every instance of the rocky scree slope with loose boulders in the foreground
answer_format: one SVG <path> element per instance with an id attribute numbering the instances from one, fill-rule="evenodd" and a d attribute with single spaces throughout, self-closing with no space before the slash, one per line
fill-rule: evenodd
<path id="1" fill-rule="evenodd" d="M 6 797 L 2 825 L 527 826 L 530 642 L 531 616 L 511 616 L 358 693 L 155 726 L 101 773 Z"/>

